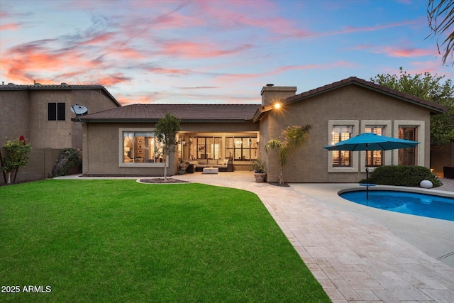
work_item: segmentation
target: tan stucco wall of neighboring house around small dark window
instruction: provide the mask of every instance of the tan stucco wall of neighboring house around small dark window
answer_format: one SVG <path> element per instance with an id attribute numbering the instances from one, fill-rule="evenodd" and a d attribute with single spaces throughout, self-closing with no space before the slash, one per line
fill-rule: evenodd
<path id="1" fill-rule="evenodd" d="M 48 121 L 48 103 L 66 104 L 65 121 Z M 24 136 L 33 148 L 82 148 L 82 125 L 71 121 L 71 104 L 89 113 L 114 109 L 117 104 L 99 89 L 0 90 L 0 143 Z"/>

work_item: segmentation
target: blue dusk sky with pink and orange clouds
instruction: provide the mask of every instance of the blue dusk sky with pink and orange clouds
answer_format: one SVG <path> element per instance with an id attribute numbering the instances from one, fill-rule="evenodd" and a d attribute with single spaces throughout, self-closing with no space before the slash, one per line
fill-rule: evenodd
<path id="1" fill-rule="evenodd" d="M 441 64 L 427 0 L 0 0 L 0 81 L 101 84 L 121 104 L 259 104 Z"/>

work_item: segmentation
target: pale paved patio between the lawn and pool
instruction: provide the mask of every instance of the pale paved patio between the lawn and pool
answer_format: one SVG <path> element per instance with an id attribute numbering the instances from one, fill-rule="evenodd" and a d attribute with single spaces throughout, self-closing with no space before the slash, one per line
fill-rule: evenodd
<path id="1" fill-rule="evenodd" d="M 453 302 L 453 221 L 373 209 L 338 196 L 358 184 L 277 187 L 241 171 L 172 178 L 258 194 L 333 302 Z M 428 190 L 453 194 L 453 180 L 443 182 Z"/>

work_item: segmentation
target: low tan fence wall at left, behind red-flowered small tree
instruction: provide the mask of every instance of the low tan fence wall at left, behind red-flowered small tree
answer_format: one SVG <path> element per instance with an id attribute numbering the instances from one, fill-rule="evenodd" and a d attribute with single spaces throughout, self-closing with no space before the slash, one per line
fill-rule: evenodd
<path id="1" fill-rule="evenodd" d="M 52 173 L 52 167 L 60 155 L 61 149 L 55 148 L 33 148 L 30 153 L 27 165 L 20 167 L 17 172 L 16 183 L 31 182 L 36 180 L 44 180 Z M 1 148 L 1 155 L 5 157 L 6 150 Z M 3 170 L 0 171 L 0 173 Z M 15 171 L 11 172 L 11 182 L 13 182 Z M 8 175 L 6 175 L 8 177 Z M 4 185 L 3 173 L 0 176 L 0 185 Z"/>

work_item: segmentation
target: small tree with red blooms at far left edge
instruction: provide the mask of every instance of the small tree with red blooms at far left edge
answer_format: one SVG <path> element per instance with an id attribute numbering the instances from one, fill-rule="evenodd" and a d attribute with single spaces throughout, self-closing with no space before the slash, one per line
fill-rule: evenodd
<path id="1" fill-rule="evenodd" d="M 8 174 L 6 184 L 11 184 L 11 171 L 16 170 L 14 173 L 13 183 L 16 183 L 17 171 L 19 167 L 25 166 L 28 162 L 28 153 L 31 152 L 31 145 L 26 143 L 26 140 L 21 139 L 9 140 L 6 138 L 6 143 L 3 145 L 6 149 L 6 156 L 2 162 L 2 170 Z"/>

